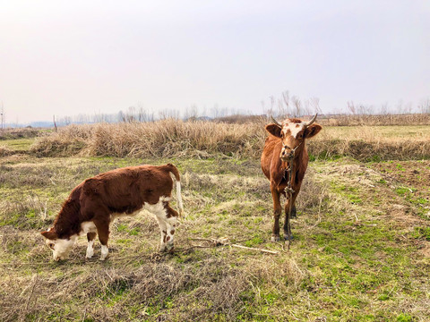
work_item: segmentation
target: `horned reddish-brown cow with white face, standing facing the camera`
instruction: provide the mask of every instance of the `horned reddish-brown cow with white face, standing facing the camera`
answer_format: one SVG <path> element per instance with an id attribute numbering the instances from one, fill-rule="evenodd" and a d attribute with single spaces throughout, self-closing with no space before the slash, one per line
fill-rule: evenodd
<path id="1" fill-rule="evenodd" d="M 278 123 L 272 118 L 273 123 L 266 125 L 266 131 L 271 133 L 266 139 L 262 151 L 262 172 L 271 182 L 271 197 L 273 198 L 273 233 L 271 241 L 280 240 L 280 195 L 286 196 L 288 181 L 291 180 L 292 199 L 287 199 L 285 204 L 285 224 L 284 237 L 288 240 L 291 236 L 289 226 L 289 208 L 291 206 L 291 216 L 296 216 L 296 198 L 300 191 L 303 178 L 309 161 L 305 140 L 314 137 L 321 131 L 321 125 L 314 123 L 316 115 L 309 122 L 291 118 L 282 123 Z M 289 178 L 289 166 L 292 160 L 291 177 Z M 288 197 L 287 197 L 288 198 Z"/>

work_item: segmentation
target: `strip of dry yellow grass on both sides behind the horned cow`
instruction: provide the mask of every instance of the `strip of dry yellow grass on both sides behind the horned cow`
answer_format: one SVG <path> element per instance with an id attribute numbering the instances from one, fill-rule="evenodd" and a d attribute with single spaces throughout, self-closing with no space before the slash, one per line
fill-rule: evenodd
<path id="1" fill-rule="evenodd" d="M 39 138 L 30 153 L 39 157 L 231 157 L 258 158 L 265 123 L 212 123 L 164 120 L 154 123 L 70 125 Z M 361 160 L 430 157 L 430 126 L 323 127 L 309 141 L 314 157 Z"/>

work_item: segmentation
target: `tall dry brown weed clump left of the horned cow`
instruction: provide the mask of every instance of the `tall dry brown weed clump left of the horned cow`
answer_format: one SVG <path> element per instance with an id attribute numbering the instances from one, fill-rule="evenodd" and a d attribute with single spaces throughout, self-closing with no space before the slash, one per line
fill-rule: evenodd
<path id="1" fill-rule="evenodd" d="M 205 157 L 222 153 L 256 157 L 265 139 L 259 123 L 163 120 L 154 123 L 71 125 L 31 148 L 39 156 Z"/>

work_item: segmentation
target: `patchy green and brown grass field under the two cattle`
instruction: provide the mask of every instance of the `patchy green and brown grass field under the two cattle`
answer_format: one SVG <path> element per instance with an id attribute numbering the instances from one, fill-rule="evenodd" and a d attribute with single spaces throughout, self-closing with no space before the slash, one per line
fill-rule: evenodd
<path id="1" fill-rule="evenodd" d="M 371 138 L 363 129 L 324 130 Z M 426 141 L 430 132 L 379 130 L 386 140 Z M 288 251 L 269 242 L 271 193 L 257 157 L 40 157 L 2 144 L 14 151 L 0 158 L 0 320 L 430 320 L 426 159 L 316 157 Z M 167 162 L 182 174 L 186 214 L 174 254 L 157 252 L 158 225 L 142 213 L 112 225 L 106 262 L 97 259 L 99 243 L 85 260 L 85 238 L 68 261 L 52 261 L 39 232 L 76 184 Z M 211 242 L 226 240 L 278 254 Z"/>

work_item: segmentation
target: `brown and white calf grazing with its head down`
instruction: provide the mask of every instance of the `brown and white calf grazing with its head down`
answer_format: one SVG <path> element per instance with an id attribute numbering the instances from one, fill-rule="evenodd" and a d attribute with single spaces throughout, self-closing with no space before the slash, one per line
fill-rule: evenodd
<path id="1" fill-rule="evenodd" d="M 67 258 L 78 236 L 87 235 L 87 258 L 99 233 L 100 259 L 107 257 L 109 224 L 116 216 L 133 216 L 143 209 L 156 216 L 161 232 L 160 251 L 172 250 L 177 212 L 170 208 L 173 177 L 179 215 L 183 211 L 181 182 L 175 165 L 138 165 L 98 174 L 73 189 L 56 216 L 54 225 L 42 235 L 55 260 Z"/>

